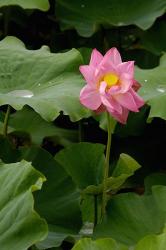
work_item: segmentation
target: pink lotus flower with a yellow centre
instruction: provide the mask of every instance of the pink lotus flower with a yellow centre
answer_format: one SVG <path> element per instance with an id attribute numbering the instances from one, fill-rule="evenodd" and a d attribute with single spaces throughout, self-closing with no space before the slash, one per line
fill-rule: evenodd
<path id="1" fill-rule="evenodd" d="M 81 103 L 95 112 L 108 111 L 125 124 L 129 111 L 138 112 L 144 100 L 136 93 L 134 61 L 122 62 L 116 48 L 104 56 L 94 49 L 90 64 L 80 66 L 87 84 L 80 92 Z"/>

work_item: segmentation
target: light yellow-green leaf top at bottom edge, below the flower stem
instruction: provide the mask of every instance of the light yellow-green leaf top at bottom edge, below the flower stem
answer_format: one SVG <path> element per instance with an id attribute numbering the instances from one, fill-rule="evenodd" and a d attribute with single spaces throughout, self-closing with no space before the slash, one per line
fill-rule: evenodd
<path id="1" fill-rule="evenodd" d="M 72 250 L 128 250 L 128 248 L 110 238 L 96 241 L 84 238 L 79 240 Z"/>

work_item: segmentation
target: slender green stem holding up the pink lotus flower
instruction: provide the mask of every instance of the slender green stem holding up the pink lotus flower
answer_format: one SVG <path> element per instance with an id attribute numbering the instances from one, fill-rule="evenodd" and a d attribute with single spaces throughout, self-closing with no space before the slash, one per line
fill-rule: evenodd
<path id="1" fill-rule="evenodd" d="M 109 174 L 109 161 L 110 161 L 110 149 L 111 149 L 111 121 L 110 114 L 107 112 L 107 126 L 108 126 L 108 139 L 106 149 L 106 160 L 104 166 L 104 178 L 103 178 L 103 196 L 102 196 L 102 207 L 101 207 L 101 218 L 103 219 L 105 214 L 105 208 L 107 205 L 107 178 Z"/>

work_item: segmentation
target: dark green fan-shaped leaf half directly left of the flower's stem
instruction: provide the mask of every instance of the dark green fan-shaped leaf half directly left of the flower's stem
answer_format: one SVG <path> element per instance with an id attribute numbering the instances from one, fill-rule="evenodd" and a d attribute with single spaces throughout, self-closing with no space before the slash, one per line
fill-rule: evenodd
<path id="1" fill-rule="evenodd" d="M 102 182 L 104 148 L 101 144 L 76 143 L 56 154 L 55 160 L 71 176 L 74 183 L 84 189 L 88 185 Z"/>

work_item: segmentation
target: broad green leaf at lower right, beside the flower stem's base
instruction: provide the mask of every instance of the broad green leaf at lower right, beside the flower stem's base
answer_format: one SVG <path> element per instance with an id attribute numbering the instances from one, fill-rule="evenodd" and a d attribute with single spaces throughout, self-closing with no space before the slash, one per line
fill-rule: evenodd
<path id="1" fill-rule="evenodd" d="M 125 193 L 112 198 L 95 237 L 112 237 L 133 246 L 149 234 L 161 233 L 165 223 L 166 187 L 154 186 L 150 195 Z"/>

